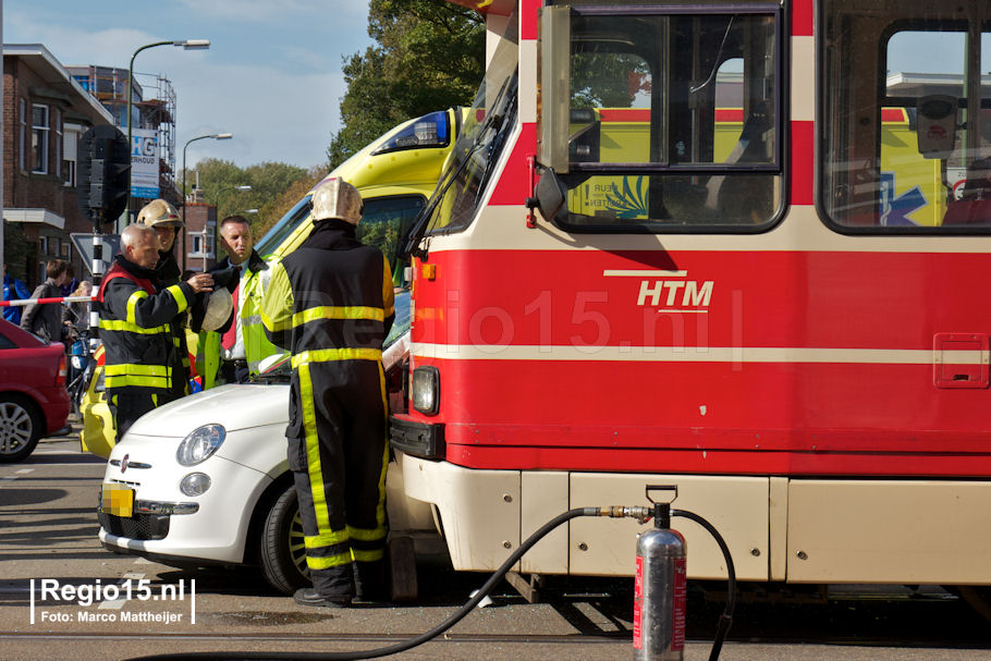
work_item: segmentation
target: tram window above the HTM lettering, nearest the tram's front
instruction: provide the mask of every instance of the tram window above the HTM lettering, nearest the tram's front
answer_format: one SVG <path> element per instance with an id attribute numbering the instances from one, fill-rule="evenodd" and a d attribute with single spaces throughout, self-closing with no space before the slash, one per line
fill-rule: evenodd
<path id="1" fill-rule="evenodd" d="M 781 205 L 778 3 L 572 2 L 568 231 L 755 231 Z M 741 5 L 735 5 L 734 11 Z"/>

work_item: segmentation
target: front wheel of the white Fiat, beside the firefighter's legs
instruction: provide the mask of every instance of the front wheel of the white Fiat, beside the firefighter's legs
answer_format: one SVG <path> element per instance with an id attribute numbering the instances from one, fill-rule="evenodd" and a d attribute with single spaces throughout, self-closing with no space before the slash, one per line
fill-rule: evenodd
<path id="1" fill-rule="evenodd" d="M 260 555 L 265 579 L 280 592 L 292 595 L 310 584 L 299 502 L 291 482 L 265 517 Z"/>

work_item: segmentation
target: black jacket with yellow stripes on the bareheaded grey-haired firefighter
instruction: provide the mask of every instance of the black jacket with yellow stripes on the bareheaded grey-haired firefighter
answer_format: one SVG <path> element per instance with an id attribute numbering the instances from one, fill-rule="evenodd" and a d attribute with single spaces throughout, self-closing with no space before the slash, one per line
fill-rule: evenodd
<path id="1" fill-rule="evenodd" d="M 175 399 L 172 322 L 193 296 L 185 282 L 159 291 L 154 270 L 117 256 L 97 295 L 108 391 L 150 394 L 158 404 Z"/>

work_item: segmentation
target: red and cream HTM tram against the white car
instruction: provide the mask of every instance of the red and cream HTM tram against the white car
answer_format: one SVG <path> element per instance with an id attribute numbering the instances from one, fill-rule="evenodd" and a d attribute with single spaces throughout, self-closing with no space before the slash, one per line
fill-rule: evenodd
<path id="1" fill-rule="evenodd" d="M 461 3 L 392 419 L 455 567 L 674 483 L 745 580 L 991 584 L 991 2 Z M 519 572 L 631 575 L 639 529 Z"/>

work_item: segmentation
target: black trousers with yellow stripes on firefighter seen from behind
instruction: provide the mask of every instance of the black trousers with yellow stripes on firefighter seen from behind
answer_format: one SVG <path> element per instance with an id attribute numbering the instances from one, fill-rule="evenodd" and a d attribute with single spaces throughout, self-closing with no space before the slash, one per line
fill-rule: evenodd
<path id="1" fill-rule="evenodd" d="M 313 363 L 294 370 L 289 465 L 306 563 L 325 598 L 384 597 L 387 425 L 381 363 Z"/>

